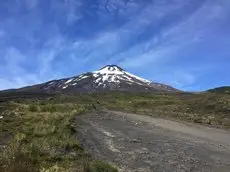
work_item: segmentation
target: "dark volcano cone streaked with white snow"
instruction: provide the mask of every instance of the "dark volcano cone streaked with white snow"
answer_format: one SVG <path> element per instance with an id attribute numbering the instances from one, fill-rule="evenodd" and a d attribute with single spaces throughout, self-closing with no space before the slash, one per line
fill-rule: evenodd
<path id="1" fill-rule="evenodd" d="M 107 65 L 98 71 L 84 73 L 71 78 L 53 80 L 44 84 L 21 88 L 18 91 L 76 93 L 113 90 L 131 92 L 177 91 L 170 86 L 153 83 L 135 76 L 116 65 Z"/>

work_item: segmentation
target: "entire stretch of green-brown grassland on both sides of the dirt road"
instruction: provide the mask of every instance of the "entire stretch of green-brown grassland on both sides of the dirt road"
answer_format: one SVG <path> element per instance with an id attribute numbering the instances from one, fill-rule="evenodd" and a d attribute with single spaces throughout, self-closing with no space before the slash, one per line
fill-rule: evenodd
<path id="1" fill-rule="evenodd" d="M 0 95 L 1 171 L 116 172 L 111 165 L 94 160 L 76 138 L 76 115 L 106 109 L 230 128 L 229 94 L 4 94 Z"/>

